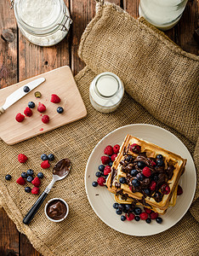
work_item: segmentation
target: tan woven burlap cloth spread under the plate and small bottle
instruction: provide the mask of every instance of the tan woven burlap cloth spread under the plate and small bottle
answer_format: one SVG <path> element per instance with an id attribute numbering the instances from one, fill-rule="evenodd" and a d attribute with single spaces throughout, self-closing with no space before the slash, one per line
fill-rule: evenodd
<path id="1" fill-rule="evenodd" d="M 173 132 L 194 154 L 198 57 L 183 52 L 161 33 L 110 4 L 99 6 L 82 36 L 80 55 L 88 67 L 77 74 L 76 81 L 88 116 L 14 146 L 1 140 L 0 204 L 43 255 L 196 255 L 198 224 L 190 212 L 159 235 L 123 235 L 96 216 L 88 203 L 83 177 L 96 143 L 122 125 L 159 125 Z M 91 106 L 88 88 L 96 73 L 107 70 L 121 77 L 128 93 L 115 113 L 103 114 Z M 19 153 L 28 156 L 26 164 L 18 162 Z M 28 168 L 41 172 L 42 153 L 54 153 L 56 160 L 71 159 L 71 173 L 56 183 L 47 199 L 65 199 L 70 212 L 65 221 L 54 224 L 44 215 L 44 203 L 27 226 L 22 219 L 37 195 L 26 194 L 15 180 Z M 195 157 L 198 160 L 198 151 Z M 7 173 L 12 175 L 10 182 L 4 179 Z M 51 171 L 44 174 L 41 190 L 52 177 Z M 196 201 L 194 204 L 192 214 L 197 217 Z"/>

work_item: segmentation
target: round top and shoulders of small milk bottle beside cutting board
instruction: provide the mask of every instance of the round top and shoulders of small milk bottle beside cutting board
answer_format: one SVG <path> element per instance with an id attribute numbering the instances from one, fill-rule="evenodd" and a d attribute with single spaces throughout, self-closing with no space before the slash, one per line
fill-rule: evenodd
<path id="1" fill-rule="evenodd" d="M 101 107 L 111 108 L 122 101 L 124 87 L 115 73 L 99 73 L 90 85 L 90 96 Z"/>

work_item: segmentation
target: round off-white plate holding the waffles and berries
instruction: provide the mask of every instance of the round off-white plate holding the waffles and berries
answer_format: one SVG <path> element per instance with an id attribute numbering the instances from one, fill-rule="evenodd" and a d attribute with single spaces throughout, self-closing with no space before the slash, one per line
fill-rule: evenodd
<path id="1" fill-rule="evenodd" d="M 92 186 L 93 181 L 97 179 L 95 172 L 98 171 L 98 166 L 101 164 L 100 157 L 104 155 L 104 148 L 107 145 L 121 145 L 127 134 L 155 143 L 187 159 L 185 172 L 179 179 L 179 184 L 183 188 L 184 193 L 178 196 L 175 207 L 168 208 L 166 214 L 162 216 L 162 224 L 157 224 L 156 220 L 152 220 L 151 224 L 146 224 L 143 220 L 139 222 L 134 220 L 122 222 L 120 215 L 117 215 L 112 207 L 114 195 L 105 187 L 97 186 L 94 188 Z M 171 228 L 188 211 L 196 190 L 196 169 L 188 149 L 171 132 L 155 125 L 127 125 L 112 131 L 95 146 L 86 166 L 85 187 L 91 207 L 93 207 L 94 212 L 105 224 L 123 234 L 151 236 Z"/>

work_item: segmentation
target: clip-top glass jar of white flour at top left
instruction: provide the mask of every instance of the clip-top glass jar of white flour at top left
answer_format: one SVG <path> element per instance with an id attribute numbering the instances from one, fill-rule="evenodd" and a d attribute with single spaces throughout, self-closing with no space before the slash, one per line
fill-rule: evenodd
<path id="1" fill-rule="evenodd" d="M 63 0 L 12 0 L 14 15 L 23 35 L 40 46 L 58 44 L 71 26 Z"/>

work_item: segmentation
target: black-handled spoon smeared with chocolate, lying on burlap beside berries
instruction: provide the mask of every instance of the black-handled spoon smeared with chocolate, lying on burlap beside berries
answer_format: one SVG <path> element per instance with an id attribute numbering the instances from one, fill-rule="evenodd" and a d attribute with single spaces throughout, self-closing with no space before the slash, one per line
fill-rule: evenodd
<path id="1" fill-rule="evenodd" d="M 32 218 L 34 218 L 39 207 L 41 207 L 49 191 L 53 188 L 54 183 L 58 180 L 65 178 L 69 174 L 70 169 L 71 169 L 71 161 L 67 158 L 62 159 L 56 163 L 53 169 L 53 179 L 51 183 L 48 184 L 47 188 L 43 191 L 43 194 L 39 196 L 35 204 L 31 207 L 30 211 L 27 212 L 25 218 L 23 219 L 24 224 L 30 224 Z"/>

